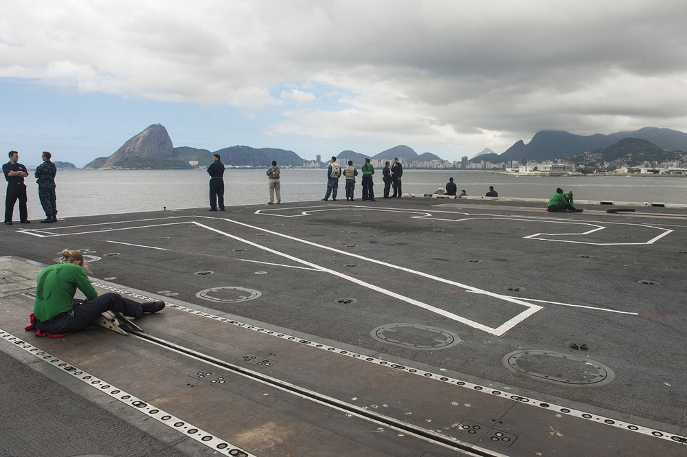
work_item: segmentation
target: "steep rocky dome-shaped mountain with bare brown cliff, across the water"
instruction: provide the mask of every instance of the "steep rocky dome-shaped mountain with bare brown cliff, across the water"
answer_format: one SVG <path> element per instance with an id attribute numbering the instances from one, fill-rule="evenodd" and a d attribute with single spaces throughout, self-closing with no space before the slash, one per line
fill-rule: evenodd
<path id="1" fill-rule="evenodd" d="M 113 155 L 104 161 L 102 166 L 95 167 L 94 162 L 98 161 L 98 159 L 95 159 L 84 168 L 108 169 L 114 168 L 115 166 L 138 168 L 137 166 L 131 166 L 126 163 L 120 164 L 120 162 L 126 159 L 165 159 L 170 157 L 173 151 L 174 145 L 172 144 L 170 135 L 167 133 L 167 129 L 165 129 L 162 124 L 153 124 L 124 143 L 122 147 L 117 149 Z M 139 163 L 141 161 L 135 160 L 135 162 Z M 186 165 L 188 166 L 188 164 Z"/>

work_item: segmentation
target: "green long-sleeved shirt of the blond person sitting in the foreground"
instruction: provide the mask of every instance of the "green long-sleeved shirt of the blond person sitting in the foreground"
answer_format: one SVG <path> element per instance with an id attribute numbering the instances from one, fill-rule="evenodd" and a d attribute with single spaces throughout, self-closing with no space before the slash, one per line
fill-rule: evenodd
<path id="1" fill-rule="evenodd" d="M 57 263 L 43 269 L 36 278 L 36 300 L 34 315 L 38 320 L 48 320 L 54 315 L 65 313 L 74 306 L 72 300 L 76 289 L 93 300 L 98 292 L 82 267 L 74 263 Z"/>

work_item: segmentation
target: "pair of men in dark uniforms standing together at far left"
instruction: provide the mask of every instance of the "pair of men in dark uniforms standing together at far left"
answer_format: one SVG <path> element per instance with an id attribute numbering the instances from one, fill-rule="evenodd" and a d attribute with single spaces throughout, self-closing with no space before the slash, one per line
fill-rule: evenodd
<path id="1" fill-rule="evenodd" d="M 14 205 L 19 200 L 19 222 L 30 224 L 29 213 L 27 210 L 27 195 L 24 178 L 29 176 L 26 167 L 19 163 L 19 153 L 10 151 L 8 153 L 10 161 L 3 164 L 2 172 L 7 181 L 7 192 L 5 193 L 5 225 L 12 225 Z M 41 201 L 45 219 L 41 223 L 57 222 L 57 197 L 55 193 L 55 175 L 57 167 L 50 160 L 52 154 L 45 151 L 41 155 L 43 163 L 36 167 L 34 177 L 38 183 L 38 199 Z"/>

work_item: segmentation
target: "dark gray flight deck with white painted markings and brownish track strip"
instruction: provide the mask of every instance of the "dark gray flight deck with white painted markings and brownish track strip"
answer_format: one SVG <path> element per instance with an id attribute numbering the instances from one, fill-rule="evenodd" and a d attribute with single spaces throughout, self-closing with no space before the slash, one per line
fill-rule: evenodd
<path id="1" fill-rule="evenodd" d="M 404 197 L 4 226 L 0 368 L 25 392 L 3 377 L 21 427 L 0 455 L 687 455 L 687 212 L 607 209 Z M 165 300 L 137 323 L 193 354 L 24 332 L 67 247 L 100 293 Z"/>

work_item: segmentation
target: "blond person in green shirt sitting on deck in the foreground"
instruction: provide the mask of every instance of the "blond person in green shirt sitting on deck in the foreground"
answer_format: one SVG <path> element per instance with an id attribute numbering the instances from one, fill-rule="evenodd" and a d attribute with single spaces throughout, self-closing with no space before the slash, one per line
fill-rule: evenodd
<path id="1" fill-rule="evenodd" d="M 131 317 L 143 313 L 157 313 L 164 302 L 139 303 L 120 296 L 105 293 L 98 296 L 91 280 L 83 254 L 65 249 L 62 262 L 43 269 L 36 278 L 34 316 L 36 328 L 45 333 L 69 333 L 86 328 L 105 311 L 117 311 Z M 86 296 L 86 302 L 74 301 L 76 289 Z"/>

